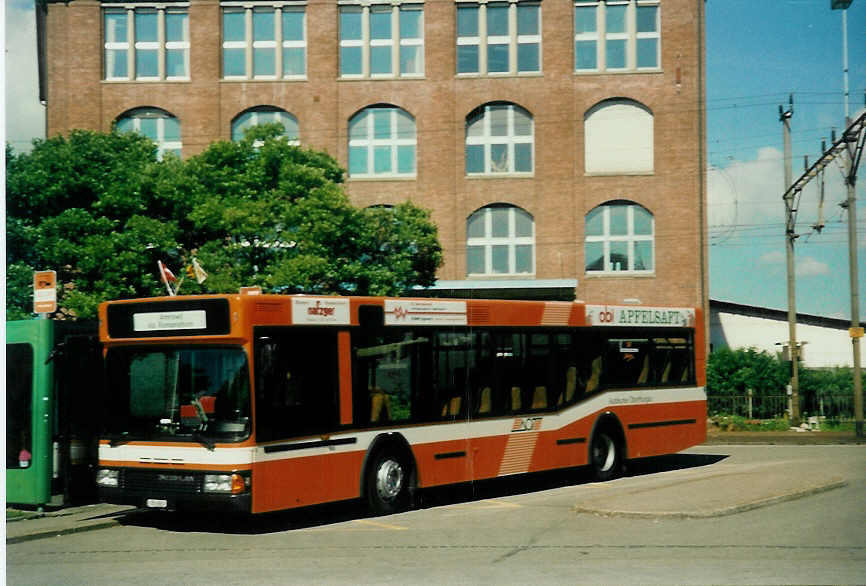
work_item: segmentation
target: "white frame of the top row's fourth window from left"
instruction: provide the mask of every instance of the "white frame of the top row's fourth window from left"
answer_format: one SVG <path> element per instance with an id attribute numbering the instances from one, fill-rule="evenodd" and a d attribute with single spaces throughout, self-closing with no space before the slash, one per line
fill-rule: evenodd
<path id="1" fill-rule="evenodd" d="M 457 37 L 457 45 L 472 45 L 478 47 L 478 70 L 457 72 L 457 77 L 502 77 L 527 75 L 541 75 L 543 71 L 542 62 L 542 43 L 541 43 L 541 28 L 542 28 L 542 11 L 541 2 L 527 1 L 518 2 L 517 0 L 493 1 L 489 4 L 507 5 L 508 6 L 508 35 L 490 36 L 487 32 L 487 6 L 488 2 L 477 0 L 457 0 L 457 5 L 475 5 L 478 7 L 478 35 Z M 538 33 L 535 35 L 518 35 L 517 34 L 517 10 L 518 6 L 537 6 L 538 7 Z M 455 10 L 455 18 L 457 15 Z M 456 29 L 455 29 L 456 30 Z M 521 44 L 538 44 L 538 69 L 521 71 L 517 63 L 517 49 Z M 489 71 L 487 49 L 490 45 L 508 45 L 508 71 Z"/>

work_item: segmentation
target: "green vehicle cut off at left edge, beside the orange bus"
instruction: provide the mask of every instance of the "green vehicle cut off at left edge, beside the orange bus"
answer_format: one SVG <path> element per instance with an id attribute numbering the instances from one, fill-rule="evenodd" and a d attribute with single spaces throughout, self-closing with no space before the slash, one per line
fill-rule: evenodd
<path id="1" fill-rule="evenodd" d="M 96 323 L 6 322 L 6 502 L 96 501 L 102 409 Z"/>

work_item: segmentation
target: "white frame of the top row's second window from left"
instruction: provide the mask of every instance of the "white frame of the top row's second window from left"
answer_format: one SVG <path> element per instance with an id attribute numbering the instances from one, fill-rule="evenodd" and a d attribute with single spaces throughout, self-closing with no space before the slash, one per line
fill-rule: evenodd
<path id="1" fill-rule="evenodd" d="M 292 2 L 220 2 L 220 35 L 224 31 L 224 15 L 226 9 L 234 9 L 235 11 L 243 11 L 244 14 L 244 40 L 243 41 L 226 41 L 221 39 L 222 51 L 220 52 L 220 78 L 225 81 L 246 81 L 246 80 L 263 80 L 263 81 L 292 81 L 307 79 L 307 2 L 292 1 Z M 256 41 L 253 38 L 253 13 L 256 9 L 270 9 L 274 11 L 274 38 L 267 41 Z M 285 40 L 283 38 L 283 12 L 295 12 L 303 14 L 304 25 L 303 35 L 301 40 Z M 244 74 L 243 75 L 225 75 L 225 51 L 226 49 L 243 49 L 244 50 Z M 274 51 L 274 72 L 273 74 L 255 74 L 255 63 L 253 54 L 255 49 L 271 49 Z M 304 50 L 304 72 L 301 74 L 284 74 L 283 73 L 283 49 L 303 49 Z"/>

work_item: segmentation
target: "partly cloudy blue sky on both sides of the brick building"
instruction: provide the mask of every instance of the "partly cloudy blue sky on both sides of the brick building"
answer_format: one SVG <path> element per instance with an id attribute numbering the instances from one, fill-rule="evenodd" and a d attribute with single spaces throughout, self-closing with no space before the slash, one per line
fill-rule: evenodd
<path id="1" fill-rule="evenodd" d="M 6 141 L 26 151 L 43 137 L 33 0 L 6 0 Z M 787 309 L 784 161 L 780 105 L 791 118 L 793 179 L 803 158 L 821 155 L 845 128 L 842 11 L 830 0 L 707 0 L 707 189 L 710 224 L 710 298 Z M 664 1 L 662 1 L 664 18 Z M 866 93 L 866 0 L 847 11 L 849 112 L 856 118 Z M 664 39 L 662 39 L 664 43 Z M 866 319 L 866 164 L 857 188 L 859 313 Z M 838 165 L 828 167 L 826 227 L 812 229 L 819 183 L 799 202 L 795 244 L 796 309 L 850 319 L 846 198 Z"/>

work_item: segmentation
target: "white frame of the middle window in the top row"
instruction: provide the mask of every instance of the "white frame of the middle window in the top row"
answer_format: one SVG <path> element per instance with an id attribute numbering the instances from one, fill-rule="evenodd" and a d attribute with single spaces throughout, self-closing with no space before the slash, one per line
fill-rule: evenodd
<path id="1" fill-rule="evenodd" d="M 342 31 L 338 31 L 340 49 L 345 47 L 361 48 L 361 73 L 344 73 L 342 62 L 339 64 L 340 79 L 411 79 L 424 77 L 424 3 L 421 1 L 372 1 L 359 3 L 356 1 L 343 0 L 339 3 L 339 10 L 352 10 L 361 14 L 361 38 L 343 39 Z M 391 37 L 389 39 L 373 39 L 370 33 L 370 18 L 373 12 L 391 11 Z M 414 10 L 421 13 L 418 38 L 402 38 L 400 33 L 400 12 L 402 10 Z M 421 47 L 420 71 L 403 73 L 400 69 L 400 50 L 402 47 Z M 371 48 L 391 48 L 391 72 L 373 73 L 371 68 Z"/>

